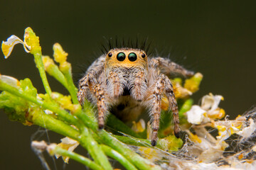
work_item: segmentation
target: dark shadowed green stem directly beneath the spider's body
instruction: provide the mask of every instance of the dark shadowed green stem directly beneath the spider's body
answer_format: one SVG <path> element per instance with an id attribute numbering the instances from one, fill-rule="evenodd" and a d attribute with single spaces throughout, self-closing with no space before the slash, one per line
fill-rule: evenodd
<path id="1" fill-rule="evenodd" d="M 134 137 L 140 137 L 136 132 L 134 132 L 131 128 L 129 128 L 126 124 L 124 124 L 121 120 L 119 120 L 113 114 L 110 114 L 107 117 L 107 126 L 114 130 L 125 133 L 127 135 L 132 135 Z"/>

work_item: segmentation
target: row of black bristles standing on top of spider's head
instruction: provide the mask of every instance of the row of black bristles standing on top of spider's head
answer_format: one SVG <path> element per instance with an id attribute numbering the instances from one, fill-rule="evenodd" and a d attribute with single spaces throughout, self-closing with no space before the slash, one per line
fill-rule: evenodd
<path id="1" fill-rule="evenodd" d="M 146 52 L 146 55 L 150 55 L 150 45 L 151 41 L 148 41 L 148 38 L 145 38 L 144 40 L 140 39 L 139 36 L 135 40 L 128 38 L 122 38 L 121 40 L 117 38 L 117 36 L 113 38 L 105 38 L 105 42 L 102 43 L 101 51 L 104 54 L 107 54 L 110 50 L 114 48 L 134 48 L 134 49 L 140 49 L 144 50 Z"/>

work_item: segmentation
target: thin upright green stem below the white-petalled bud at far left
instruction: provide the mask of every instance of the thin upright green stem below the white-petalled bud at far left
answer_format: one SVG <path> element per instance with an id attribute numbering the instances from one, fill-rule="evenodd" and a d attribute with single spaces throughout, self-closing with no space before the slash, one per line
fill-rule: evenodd
<path id="1" fill-rule="evenodd" d="M 38 52 L 35 52 L 33 56 L 35 57 L 36 67 L 38 67 L 38 71 L 43 81 L 43 86 L 46 89 L 46 93 L 50 95 L 52 91 L 50 89 L 50 85 L 46 77 L 46 71 L 43 66 L 42 53 L 41 51 L 38 51 Z"/>

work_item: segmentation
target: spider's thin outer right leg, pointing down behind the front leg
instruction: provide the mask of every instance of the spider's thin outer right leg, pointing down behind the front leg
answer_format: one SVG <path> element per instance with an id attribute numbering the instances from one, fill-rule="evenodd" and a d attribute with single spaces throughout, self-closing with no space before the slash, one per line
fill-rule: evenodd
<path id="1" fill-rule="evenodd" d="M 171 111 L 174 115 L 174 135 L 176 137 L 179 137 L 179 132 L 180 132 L 180 129 L 179 129 L 179 120 L 178 120 L 178 104 L 177 104 L 177 101 L 176 101 L 176 98 L 174 96 L 174 88 L 171 84 L 171 81 L 168 77 L 165 76 L 164 78 L 164 81 L 165 81 L 165 92 L 166 92 L 166 96 L 168 98 L 168 101 L 169 101 L 169 106 L 171 108 Z"/>

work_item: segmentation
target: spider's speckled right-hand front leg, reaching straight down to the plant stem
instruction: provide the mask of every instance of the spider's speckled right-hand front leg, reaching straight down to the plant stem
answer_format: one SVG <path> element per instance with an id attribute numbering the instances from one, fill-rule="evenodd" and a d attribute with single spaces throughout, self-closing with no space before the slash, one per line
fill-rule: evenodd
<path id="1" fill-rule="evenodd" d="M 151 122 L 151 127 L 153 129 L 151 134 L 151 145 L 156 145 L 157 132 L 159 130 L 159 118 L 161 115 L 161 94 L 164 91 L 165 80 L 164 75 L 161 74 L 158 78 L 156 78 L 155 84 L 152 84 L 149 87 L 148 92 L 146 94 L 145 100 L 148 101 L 151 105 L 150 114 L 153 115 L 153 120 Z"/>

